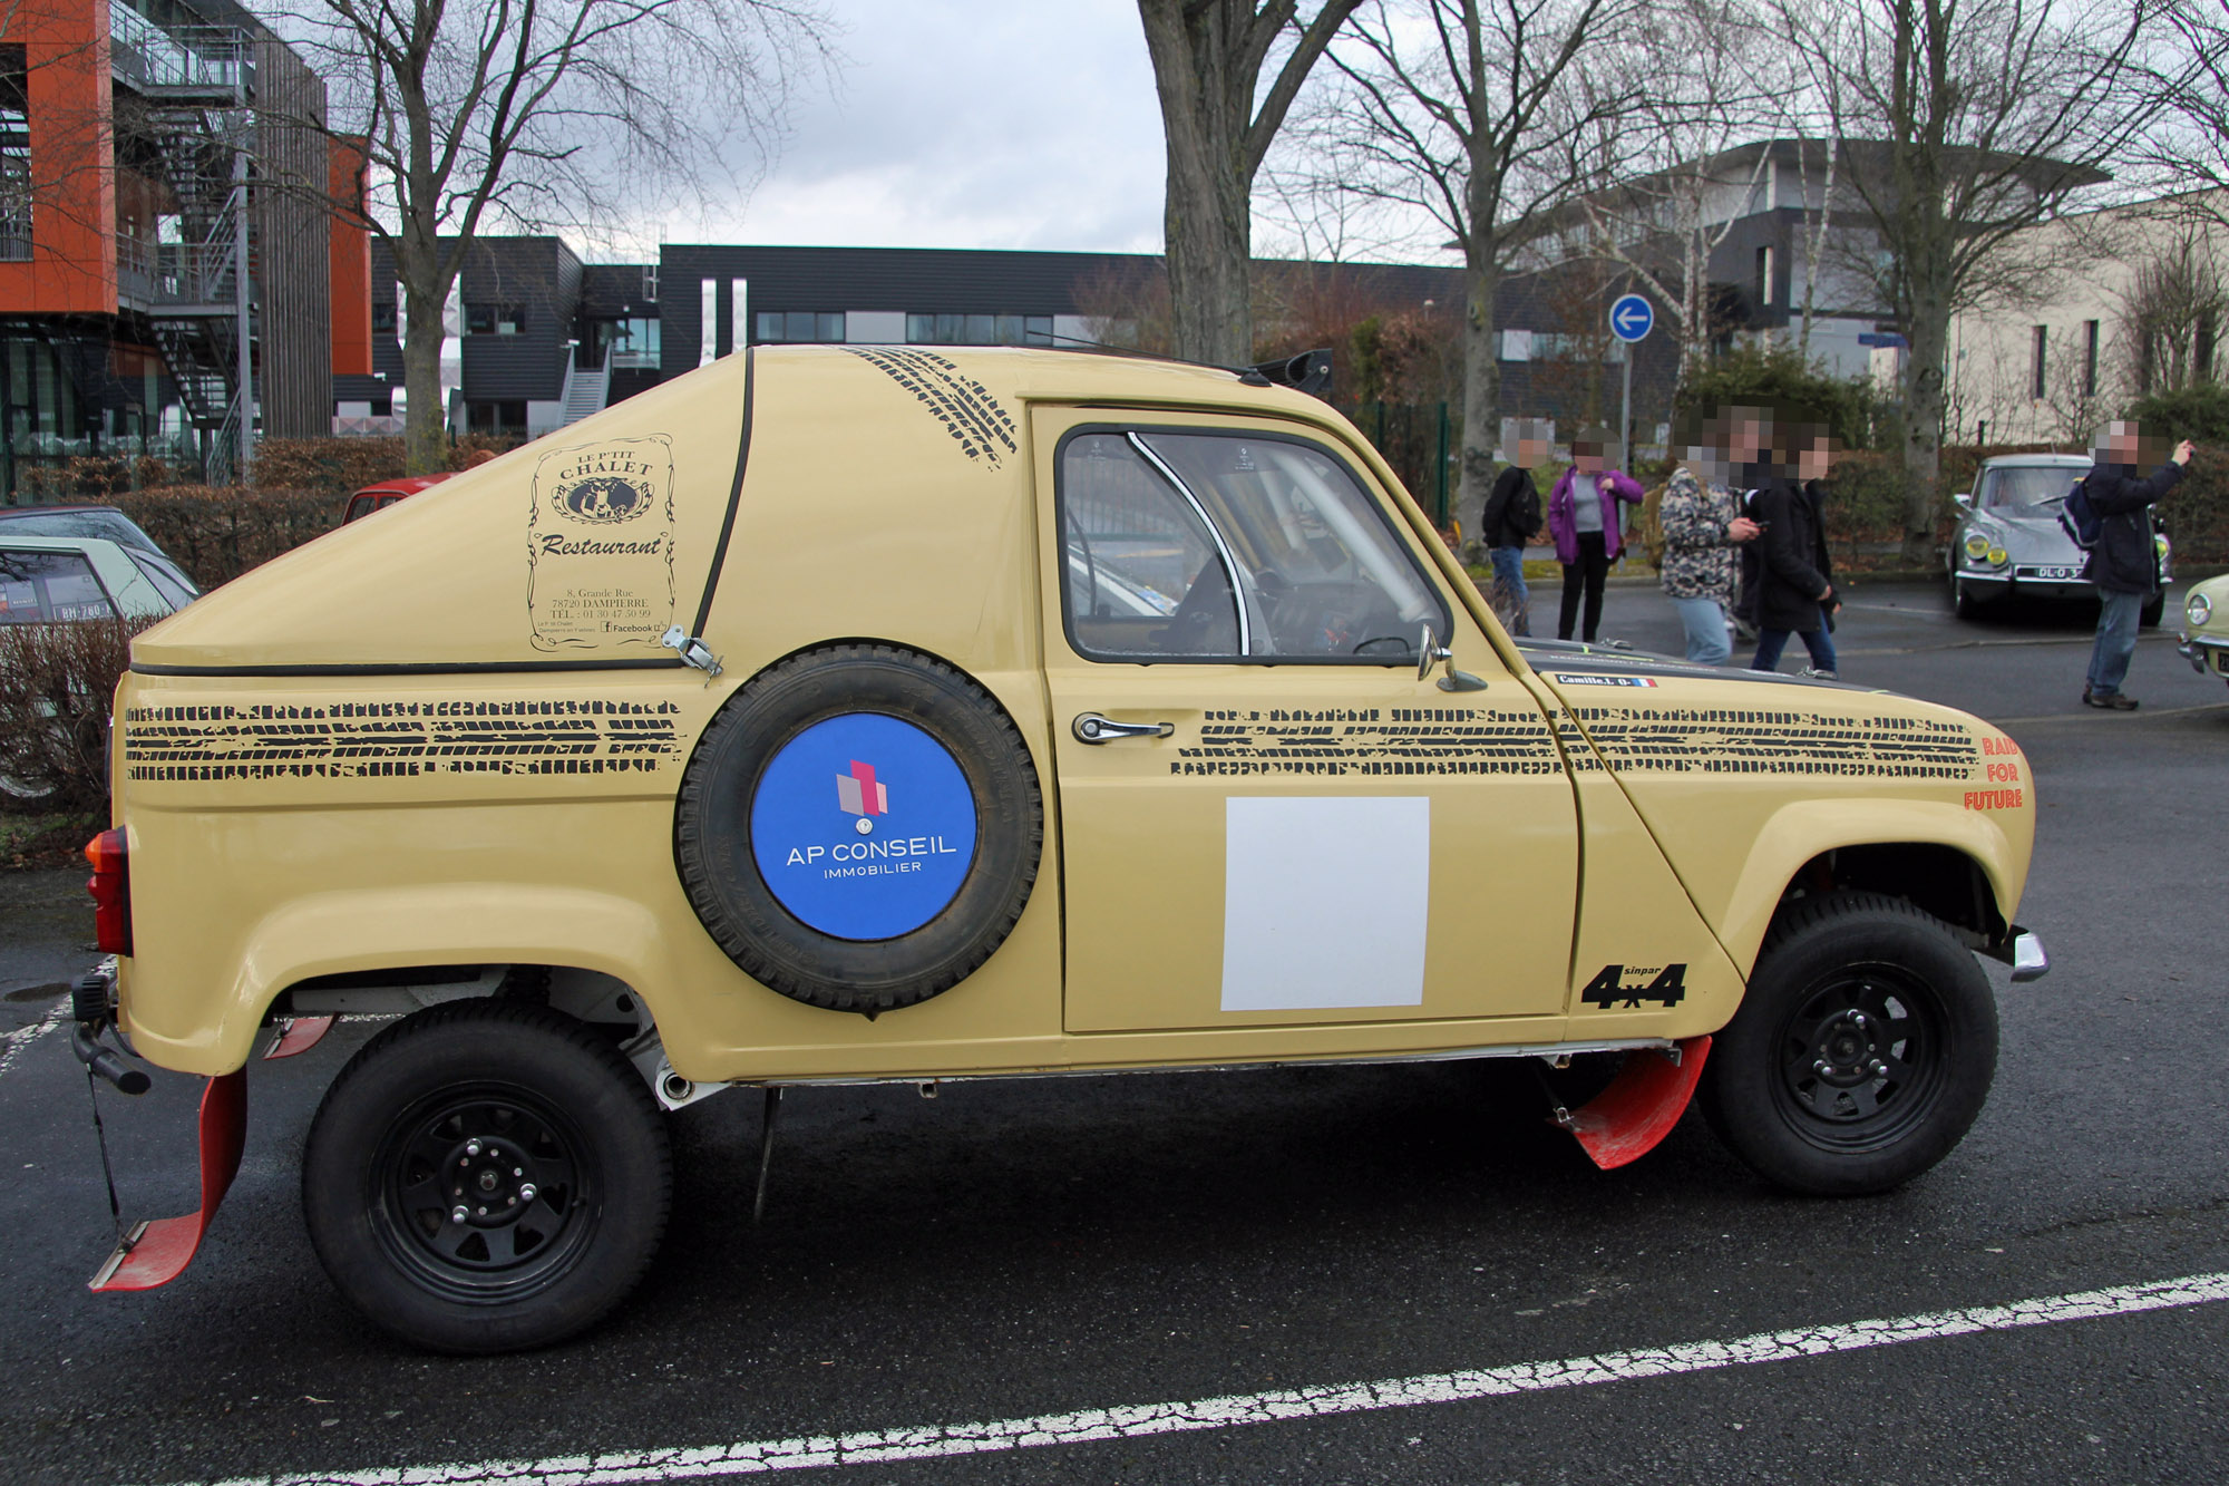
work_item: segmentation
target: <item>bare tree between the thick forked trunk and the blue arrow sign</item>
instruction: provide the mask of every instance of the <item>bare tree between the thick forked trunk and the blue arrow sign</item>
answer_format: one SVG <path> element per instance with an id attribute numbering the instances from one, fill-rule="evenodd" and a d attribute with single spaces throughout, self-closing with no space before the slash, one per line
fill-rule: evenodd
<path id="1" fill-rule="evenodd" d="M 1634 56 L 1614 42 L 1641 0 L 1375 0 L 1333 49 L 1335 103 L 1300 141 L 1346 190 L 1418 212 L 1462 252 L 1460 509 L 1493 482 L 1500 428 L 1496 292 L 1560 208 L 1612 174 L 1605 118 L 1632 112 Z"/>

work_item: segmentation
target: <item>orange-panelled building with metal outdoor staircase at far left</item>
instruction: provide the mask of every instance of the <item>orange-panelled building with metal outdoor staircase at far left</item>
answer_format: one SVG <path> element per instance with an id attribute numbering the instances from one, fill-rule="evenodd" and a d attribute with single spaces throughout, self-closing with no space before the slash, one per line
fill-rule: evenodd
<path id="1" fill-rule="evenodd" d="M 370 373 L 361 156 L 232 0 L 0 11 L 0 500 L 85 455 L 225 482 Z"/>

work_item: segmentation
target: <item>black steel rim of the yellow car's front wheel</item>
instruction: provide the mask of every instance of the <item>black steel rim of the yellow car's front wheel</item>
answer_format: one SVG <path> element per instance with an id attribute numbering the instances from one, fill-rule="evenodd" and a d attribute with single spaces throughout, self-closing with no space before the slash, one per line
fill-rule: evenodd
<path id="1" fill-rule="evenodd" d="M 1901 966 L 1839 966 L 1797 997 L 1774 1044 L 1774 1104 L 1808 1142 L 1877 1151 L 1919 1127 L 1948 1067 L 1941 995 Z"/>

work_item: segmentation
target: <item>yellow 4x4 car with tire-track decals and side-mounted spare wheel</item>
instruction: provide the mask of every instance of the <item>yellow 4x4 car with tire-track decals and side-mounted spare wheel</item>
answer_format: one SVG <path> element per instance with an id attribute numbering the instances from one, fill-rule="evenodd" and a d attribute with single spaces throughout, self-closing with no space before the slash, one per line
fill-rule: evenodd
<path id="1" fill-rule="evenodd" d="M 1513 643 L 1326 404 L 1050 350 L 742 353 L 334 531 L 138 638 L 114 801 L 76 1044 L 210 1087 L 96 1287 L 259 1051 L 399 1017 L 305 1218 L 450 1352 L 606 1314 L 736 1084 L 1623 1053 L 1598 1162 L 1696 1096 L 1857 1194 L 2044 971 L 1999 730 Z"/>

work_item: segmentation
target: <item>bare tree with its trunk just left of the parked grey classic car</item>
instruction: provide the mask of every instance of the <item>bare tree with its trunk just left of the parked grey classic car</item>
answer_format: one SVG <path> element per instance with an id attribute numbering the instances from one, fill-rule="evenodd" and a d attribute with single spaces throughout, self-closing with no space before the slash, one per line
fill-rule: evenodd
<path id="1" fill-rule="evenodd" d="M 2069 0 L 1841 0 L 1832 132 L 1877 239 L 1884 306 L 1904 326 L 1904 560 L 1930 556 L 1950 317 L 2033 283 L 2013 250 L 2080 187 L 2104 181 L 2155 114 L 2138 45 L 2151 9 Z M 1857 143 L 1863 141 L 1863 143 Z"/>

